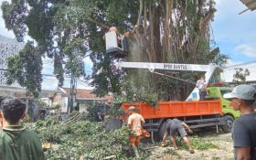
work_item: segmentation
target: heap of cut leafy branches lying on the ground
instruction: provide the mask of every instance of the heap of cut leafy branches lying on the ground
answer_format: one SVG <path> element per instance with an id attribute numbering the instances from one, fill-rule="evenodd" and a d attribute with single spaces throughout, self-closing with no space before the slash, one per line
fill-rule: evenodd
<path id="1" fill-rule="evenodd" d="M 53 143 L 46 154 L 49 160 L 98 160 L 110 155 L 115 155 L 117 159 L 133 159 L 126 127 L 106 132 L 101 123 L 79 121 L 65 125 L 48 123 L 47 120 L 38 121 L 36 126 L 30 128 L 38 133 L 43 142 Z"/>

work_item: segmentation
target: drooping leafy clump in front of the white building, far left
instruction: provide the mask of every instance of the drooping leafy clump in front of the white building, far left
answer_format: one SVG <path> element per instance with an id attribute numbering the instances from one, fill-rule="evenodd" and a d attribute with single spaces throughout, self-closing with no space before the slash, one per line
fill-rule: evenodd
<path id="1" fill-rule="evenodd" d="M 28 41 L 18 55 L 7 60 L 7 84 L 17 80 L 22 87 L 27 88 L 28 93 L 32 92 L 37 97 L 43 80 L 40 74 L 42 66 L 41 53 L 34 47 L 33 42 Z"/>

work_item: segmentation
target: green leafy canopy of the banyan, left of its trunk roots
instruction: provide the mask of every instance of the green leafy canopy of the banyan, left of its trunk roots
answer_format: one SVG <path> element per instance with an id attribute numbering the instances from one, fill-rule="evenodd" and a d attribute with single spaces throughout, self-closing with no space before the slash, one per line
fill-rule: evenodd
<path id="1" fill-rule="evenodd" d="M 136 1 L 126 0 L 29 0 L 5 1 L 2 5 L 5 26 L 14 31 L 16 38 L 23 41 L 26 35 L 32 37 L 40 53 L 37 59 L 46 55 L 54 59 L 54 74 L 59 79 L 59 86 L 63 85 L 65 73 L 72 72 L 77 78 L 86 76 L 82 60 L 90 56 L 94 64 L 91 84 L 100 96 L 109 91 L 119 92 L 121 84 L 120 73 L 110 65 L 113 59 L 105 55 L 102 37 L 112 22 L 116 22 L 122 32 L 130 28 L 136 20 L 137 14 L 133 13 L 137 8 Z M 22 62 L 29 64 L 28 60 Z M 17 68 L 9 63 L 8 69 Z M 25 80 L 27 85 L 23 85 L 28 91 L 37 89 L 35 93 L 40 91 L 41 82 L 41 70 L 36 71 L 37 76 L 30 75 L 35 82 Z M 18 74 L 12 78 L 21 82 L 19 79 L 25 76 Z"/>

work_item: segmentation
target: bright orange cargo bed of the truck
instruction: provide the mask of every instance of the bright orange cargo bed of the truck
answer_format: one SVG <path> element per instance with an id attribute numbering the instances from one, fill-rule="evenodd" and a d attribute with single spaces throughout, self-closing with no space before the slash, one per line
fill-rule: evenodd
<path id="1" fill-rule="evenodd" d="M 123 103 L 127 110 L 133 105 L 144 119 L 159 119 L 171 117 L 189 117 L 196 115 L 222 115 L 221 102 L 218 101 L 162 101 L 151 106 L 147 102 Z"/>

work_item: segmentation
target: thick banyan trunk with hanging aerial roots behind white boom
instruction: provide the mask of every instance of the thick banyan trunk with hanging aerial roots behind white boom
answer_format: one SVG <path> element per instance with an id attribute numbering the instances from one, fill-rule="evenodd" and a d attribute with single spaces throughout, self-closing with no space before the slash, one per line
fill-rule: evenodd
<path id="1" fill-rule="evenodd" d="M 209 52 L 208 24 L 215 12 L 212 6 L 208 6 L 208 3 L 212 3 L 211 1 L 139 0 L 140 10 L 136 27 L 138 30 L 141 26 L 143 33 L 139 31 L 135 33 L 140 45 L 140 60 L 206 63 L 202 59 Z M 159 86 L 156 83 L 156 80 L 159 80 L 158 77 L 152 74 L 147 77 L 149 80 L 144 86 L 149 87 L 149 90 L 158 89 Z M 165 88 L 167 94 L 165 98 L 172 97 L 173 100 L 185 98 L 186 92 L 189 91 L 187 85 L 181 82 L 174 84 L 176 85 Z M 167 89 L 173 91 L 167 91 Z"/>

